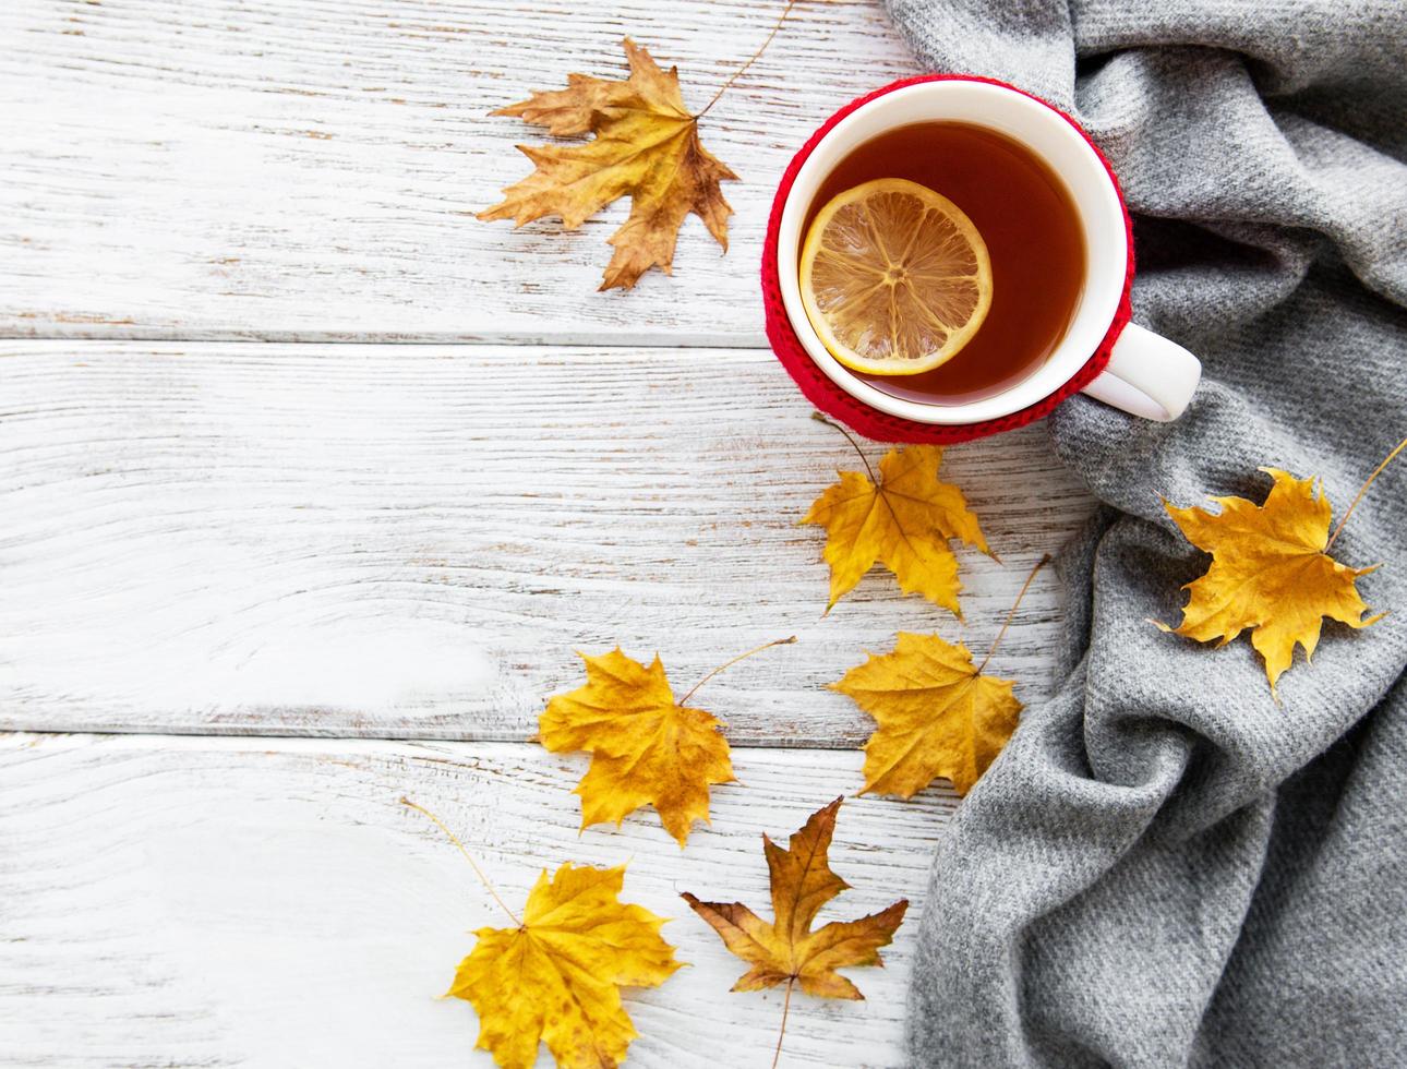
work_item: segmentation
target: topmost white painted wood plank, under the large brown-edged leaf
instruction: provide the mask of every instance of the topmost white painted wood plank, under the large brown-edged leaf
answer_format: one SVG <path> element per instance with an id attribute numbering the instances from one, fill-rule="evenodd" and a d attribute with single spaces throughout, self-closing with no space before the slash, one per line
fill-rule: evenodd
<path id="1" fill-rule="evenodd" d="M 691 218 L 677 274 L 598 294 L 619 203 L 575 233 L 473 212 L 530 166 L 488 113 L 620 38 L 701 108 L 781 0 L 7 0 L 0 333 L 761 345 L 782 169 L 844 101 L 915 73 L 874 0 L 802 0 L 704 120 L 741 181 L 726 256 Z M 843 58 L 843 60 L 840 59 Z"/>

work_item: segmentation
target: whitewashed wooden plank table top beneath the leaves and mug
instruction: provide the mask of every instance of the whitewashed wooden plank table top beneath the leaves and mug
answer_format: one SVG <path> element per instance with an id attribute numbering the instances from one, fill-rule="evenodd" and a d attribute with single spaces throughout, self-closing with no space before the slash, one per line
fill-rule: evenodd
<path id="1" fill-rule="evenodd" d="M 915 65 L 878 4 L 802 0 L 709 113 L 740 176 L 726 256 L 598 294 L 626 205 L 580 232 L 473 212 L 533 139 L 488 111 L 625 34 L 701 105 L 765 37 L 751 0 L 8 0 L 0 4 L 0 1065 L 445 1066 L 436 1001 L 511 900 L 630 859 L 694 968 L 629 996 L 642 1066 L 765 1065 L 779 996 L 680 890 L 765 902 L 760 833 L 860 786 L 864 648 L 985 647 L 1090 508 L 1040 428 L 953 449 L 996 564 L 967 625 L 875 574 L 826 619 L 798 527 L 854 456 L 765 347 L 772 190 L 808 132 Z M 878 447 L 875 450 L 878 453 Z M 1043 574 L 998 668 L 1054 685 Z M 574 650 L 658 650 L 740 785 L 688 848 L 653 813 L 578 834 L 578 755 L 526 741 Z M 898 895 L 865 1003 L 798 999 L 788 1065 L 902 1062 L 924 873 L 953 812 L 851 800 L 833 916 Z M 542 1063 L 547 1063 L 543 1055 Z"/>

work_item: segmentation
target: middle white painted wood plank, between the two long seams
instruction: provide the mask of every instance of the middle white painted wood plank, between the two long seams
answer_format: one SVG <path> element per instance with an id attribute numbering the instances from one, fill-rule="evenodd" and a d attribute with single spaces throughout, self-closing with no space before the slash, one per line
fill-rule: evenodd
<path id="1" fill-rule="evenodd" d="M 0 346 L 0 727 L 523 738 L 575 650 L 660 651 L 740 744 L 850 747 L 827 684 L 937 630 L 986 648 L 1090 498 L 1040 428 L 948 450 L 1002 563 L 967 625 L 875 571 L 830 613 L 839 467 L 764 350 Z M 874 446 L 871 457 L 882 447 Z M 1047 571 L 993 661 L 1038 700 Z"/>

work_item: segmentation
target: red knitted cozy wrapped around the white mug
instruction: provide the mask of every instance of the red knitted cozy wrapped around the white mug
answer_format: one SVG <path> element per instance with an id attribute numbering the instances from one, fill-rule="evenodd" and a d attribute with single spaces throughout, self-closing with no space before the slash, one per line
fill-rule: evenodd
<path id="1" fill-rule="evenodd" d="M 1010 415 L 999 416 L 996 419 L 983 419 L 979 423 L 917 423 L 912 419 L 892 416 L 888 412 L 871 408 L 832 383 L 826 374 L 816 367 L 815 361 L 798 340 L 791 321 L 787 318 L 787 308 L 782 305 L 781 284 L 777 274 L 777 233 L 782 222 L 782 207 L 787 203 L 787 194 L 791 191 L 792 183 L 796 180 L 796 172 L 801 170 L 802 163 L 806 162 L 806 158 L 812 153 L 812 149 L 816 148 L 820 139 L 826 136 L 826 134 L 829 134 L 830 129 L 840 122 L 840 120 L 861 104 L 867 104 L 875 97 L 892 93 L 903 86 L 913 86 L 920 82 L 951 80 L 986 82 L 993 86 L 1013 89 L 1017 93 L 1021 93 L 1021 96 L 1031 97 L 1031 100 L 1045 104 L 1045 107 L 1051 108 L 1051 111 L 1078 129 L 1085 141 L 1089 141 L 1089 135 L 1085 134 L 1079 124 L 1064 111 L 1047 104 L 1040 97 L 1034 97 L 1030 93 L 1016 89 L 1016 86 L 1009 86 L 1007 83 L 998 82 L 996 79 L 976 77 L 971 75 L 920 75 L 919 77 L 900 79 L 899 82 L 892 82 L 884 89 L 878 89 L 868 96 L 850 101 L 840 108 L 840 111 L 826 120 L 820 129 L 810 135 L 810 139 L 802 146 L 801 152 L 792 158 L 791 166 L 787 167 L 787 173 L 782 174 L 781 186 L 777 187 L 777 197 L 772 200 L 772 215 L 767 224 L 767 242 L 763 246 L 763 302 L 767 314 L 767 339 L 771 342 L 772 352 L 777 353 L 777 359 L 782 361 L 782 367 L 785 367 L 788 374 L 791 374 L 791 377 L 796 381 L 796 385 L 801 387 L 801 391 L 806 395 L 808 401 L 810 401 L 822 412 L 826 412 L 854 430 L 858 430 L 865 437 L 879 442 L 930 442 L 940 444 L 968 442 L 975 437 L 995 435 L 1000 430 L 1012 430 L 1013 428 L 1024 426 L 1031 421 L 1050 415 L 1055 409 L 1055 405 L 1071 394 L 1075 394 L 1089 385 L 1095 377 L 1104 370 L 1104 366 L 1109 363 L 1110 350 L 1113 349 L 1114 342 L 1119 339 L 1119 335 L 1123 332 L 1130 316 L 1128 288 L 1134 281 L 1134 236 L 1133 225 L 1128 219 L 1128 210 L 1126 207 L 1124 229 L 1128 236 L 1128 270 L 1124 274 L 1124 291 L 1119 298 L 1119 309 L 1114 312 L 1114 321 L 1109 325 L 1109 331 L 1104 333 L 1103 340 L 1099 343 L 1099 347 L 1093 352 L 1089 360 L 1085 361 L 1083 367 L 1081 367 L 1079 371 L 1076 371 L 1075 376 L 1059 390 L 1036 402 L 1030 408 L 1023 408 L 1019 412 L 1012 412 Z M 1095 145 L 1093 141 L 1089 141 L 1089 145 L 1095 149 L 1095 153 L 1109 172 L 1109 180 L 1114 183 L 1114 190 L 1119 193 L 1119 203 L 1123 205 L 1123 191 L 1119 188 L 1119 179 L 1114 176 L 1113 167 L 1109 166 L 1109 160 L 1104 159 L 1104 153 L 1099 151 L 1099 146 Z"/>

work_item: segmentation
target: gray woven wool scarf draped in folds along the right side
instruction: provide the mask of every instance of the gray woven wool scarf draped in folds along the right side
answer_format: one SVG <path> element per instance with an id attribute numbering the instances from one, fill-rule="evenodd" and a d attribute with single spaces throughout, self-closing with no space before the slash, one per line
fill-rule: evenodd
<path id="1" fill-rule="evenodd" d="M 1262 501 L 1272 466 L 1337 516 L 1407 433 L 1407 3 L 889 8 L 927 68 L 1085 125 L 1134 214 L 1134 319 L 1206 367 L 1176 423 L 1050 419 L 1104 506 L 1064 553 L 1064 681 L 934 862 L 913 1062 L 1407 1065 L 1407 460 L 1334 544 L 1394 615 L 1327 625 L 1282 705 L 1244 637 L 1148 623 L 1207 565 L 1159 495 Z"/>

